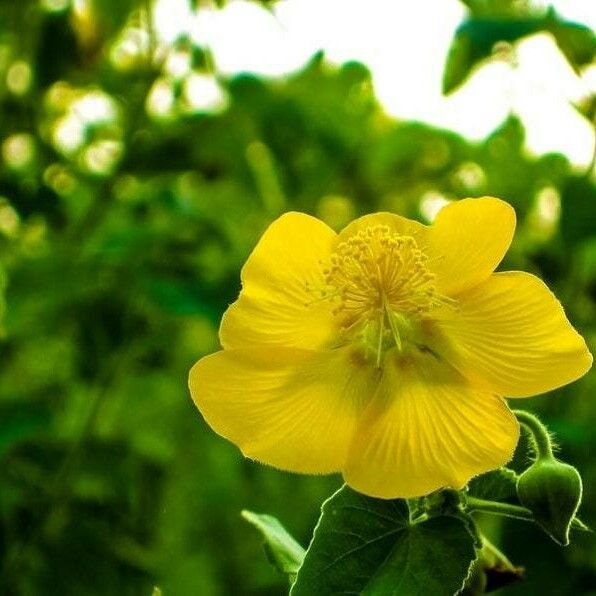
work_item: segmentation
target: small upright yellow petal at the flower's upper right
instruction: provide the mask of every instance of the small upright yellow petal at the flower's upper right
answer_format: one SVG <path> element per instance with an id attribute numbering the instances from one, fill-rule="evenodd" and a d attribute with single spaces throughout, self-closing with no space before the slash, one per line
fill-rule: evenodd
<path id="1" fill-rule="evenodd" d="M 447 296 L 485 280 L 501 262 L 515 231 L 513 207 L 492 197 L 443 207 L 429 232 L 437 287 Z"/>

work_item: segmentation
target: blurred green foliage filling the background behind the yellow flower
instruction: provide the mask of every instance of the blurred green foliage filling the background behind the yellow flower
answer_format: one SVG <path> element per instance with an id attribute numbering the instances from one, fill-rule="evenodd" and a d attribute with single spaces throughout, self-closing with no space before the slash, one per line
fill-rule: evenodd
<path id="1" fill-rule="evenodd" d="M 519 37 L 478 28 L 496 18 L 489 4 L 469 1 L 464 25 L 486 52 Z M 519 218 L 505 266 L 540 274 L 595 347 L 594 180 L 562 155 L 528 156 L 518 120 L 479 143 L 396 122 L 365 67 L 320 55 L 285 80 L 224 80 L 189 39 L 157 43 L 147 6 L 0 2 L 2 594 L 287 589 L 240 511 L 273 513 L 305 545 L 339 479 L 245 461 L 186 389 L 241 265 L 285 210 L 341 228 L 502 197 Z M 585 28 L 540 18 L 565 31 L 577 68 L 593 58 Z M 474 47 L 464 75 L 486 53 Z M 530 402 L 584 475 L 592 527 L 595 389 L 592 374 Z M 528 569 L 508 593 L 593 593 L 593 535 L 561 550 L 528 526 L 485 530 Z"/>

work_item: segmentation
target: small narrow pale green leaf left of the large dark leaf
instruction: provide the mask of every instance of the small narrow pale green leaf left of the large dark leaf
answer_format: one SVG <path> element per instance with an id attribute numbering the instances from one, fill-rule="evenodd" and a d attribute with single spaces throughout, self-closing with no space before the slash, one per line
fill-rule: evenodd
<path id="1" fill-rule="evenodd" d="M 265 539 L 265 550 L 271 563 L 288 575 L 296 575 L 304 559 L 304 549 L 290 536 L 279 520 L 271 515 L 243 511 L 242 517 Z"/>

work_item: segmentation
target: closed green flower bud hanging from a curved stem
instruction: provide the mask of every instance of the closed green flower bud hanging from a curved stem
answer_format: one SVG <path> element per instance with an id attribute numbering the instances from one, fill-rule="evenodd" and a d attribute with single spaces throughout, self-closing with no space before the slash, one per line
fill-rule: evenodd
<path id="1" fill-rule="evenodd" d="M 545 457 L 517 480 L 517 496 L 556 542 L 569 544 L 569 528 L 582 498 L 582 480 L 569 464 Z"/>

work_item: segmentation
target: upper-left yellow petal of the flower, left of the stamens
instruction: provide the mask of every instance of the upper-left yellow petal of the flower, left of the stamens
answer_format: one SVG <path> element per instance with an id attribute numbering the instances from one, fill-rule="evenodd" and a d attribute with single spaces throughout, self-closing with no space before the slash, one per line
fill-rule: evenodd
<path id="1" fill-rule="evenodd" d="M 240 297 L 223 316 L 224 348 L 281 345 L 316 349 L 335 329 L 322 288 L 322 265 L 336 234 L 303 213 L 286 213 L 265 231 L 242 268 Z"/>

